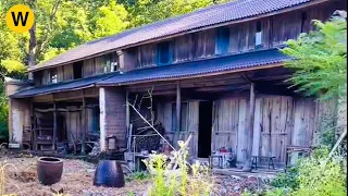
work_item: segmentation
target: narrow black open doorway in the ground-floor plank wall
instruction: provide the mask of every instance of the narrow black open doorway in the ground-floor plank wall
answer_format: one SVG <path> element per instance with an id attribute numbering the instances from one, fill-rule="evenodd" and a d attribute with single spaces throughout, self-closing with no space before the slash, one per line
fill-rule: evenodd
<path id="1" fill-rule="evenodd" d="M 211 155 L 211 128 L 213 103 L 199 102 L 198 157 L 208 158 Z"/>

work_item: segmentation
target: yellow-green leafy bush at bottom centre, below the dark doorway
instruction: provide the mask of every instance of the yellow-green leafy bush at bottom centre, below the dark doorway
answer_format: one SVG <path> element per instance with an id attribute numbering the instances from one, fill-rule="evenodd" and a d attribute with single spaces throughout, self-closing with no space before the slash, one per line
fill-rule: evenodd
<path id="1" fill-rule="evenodd" d="M 212 192 L 213 177 L 210 170 L 199 162 L 188 164 L 187 147 L 183 142 L 179 142 L 179 147 L 181 150 L 173 151 L 173 162 L 167 162 L 167 157 L 162 154 L 150 155 L 150 159 L 145 161 L 152 174 L 149 196 L 200 196 Z"/>

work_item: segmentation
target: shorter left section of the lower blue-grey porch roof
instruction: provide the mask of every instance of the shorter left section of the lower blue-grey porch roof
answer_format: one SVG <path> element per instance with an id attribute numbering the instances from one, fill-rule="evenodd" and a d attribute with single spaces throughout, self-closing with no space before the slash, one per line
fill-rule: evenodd
<path id="1" fill-rule="evenodd" d="M 55 84 L 38 86 L 38 87 L 29 87 L 26 89 L 22 89 L 21 91 L 13 94 L 10 97 L 25 98 L 25 97 L 33 97 L 37 95 L 46 95 L 46 94 L 52 94 L 58 91 L 72 90 L 76 88 L 87 88 L 87 87 L 94 86 L 97 82 L 109 78 L 115 74 L 117 73 L 109 73 L 109 74 L 102 74 L 102 75 L 86 77 L 86 78 L 76 79 L 76 81 L 55 83 Z"/>

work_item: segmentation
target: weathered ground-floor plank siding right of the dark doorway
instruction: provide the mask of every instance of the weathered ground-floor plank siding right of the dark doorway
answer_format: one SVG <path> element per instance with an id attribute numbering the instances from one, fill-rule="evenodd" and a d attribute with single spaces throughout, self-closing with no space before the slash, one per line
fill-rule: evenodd
<path id="1" fill-rule="evenodd" d="M 322 117 L 335 115 L 335 101 L 316 102 L 311 98 L 262 96 L 256 99 L 252 149 L 246 137 L 247 98 L 226 98 L 214 101 L 212 151 L 232 148 L 237 161 L 253 156 L 275 156 L 277 163 L 285 163 L 286 147 L 313 146 Z"/>

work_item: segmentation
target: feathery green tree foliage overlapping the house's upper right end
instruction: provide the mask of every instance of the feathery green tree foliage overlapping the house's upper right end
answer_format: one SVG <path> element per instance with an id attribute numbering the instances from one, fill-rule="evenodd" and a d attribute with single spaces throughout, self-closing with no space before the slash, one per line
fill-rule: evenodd
<path id="1" fill-rule="evenodd" d="M 322 99 L 346 97 L 347 22 L 314 21 L 318 30 L 288 40 L 283 52 L 296 58 L 287 66 L 296 71 L 290 82 L 307 95 Z"/>

